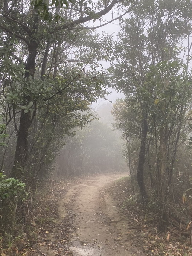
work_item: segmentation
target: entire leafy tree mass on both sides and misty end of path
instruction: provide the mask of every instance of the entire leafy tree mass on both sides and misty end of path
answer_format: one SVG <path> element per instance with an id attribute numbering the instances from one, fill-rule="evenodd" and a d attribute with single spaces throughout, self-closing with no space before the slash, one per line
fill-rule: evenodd
<path id="1" fill-rule="evenodd" d="M 116 41 L 88 26 L 106 13 L 119 19 Z M 55 159 L 59 177 L 125 169 L 118 136 L 90 111 L 108 86 L 125 94 L 114 127 L 145 208 L 162 229 L 192 227 L 192 2 L 4 0 L 0 28 L 2 234 L 26 221 L 25 189 Z"/>

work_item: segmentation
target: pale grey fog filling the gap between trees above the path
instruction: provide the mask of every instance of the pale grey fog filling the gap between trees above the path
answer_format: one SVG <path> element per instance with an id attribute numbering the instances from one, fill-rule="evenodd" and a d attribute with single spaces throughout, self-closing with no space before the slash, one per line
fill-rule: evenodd
<path id="1" fill-rule="evenodd" d="M 97 111 L 93 111 L 99 120 L 93 120 L 82 130 L 76 131 L 75 136 L 68 137 L 55 163 L 56 175 L 76 176 L 127 170 L 122 157 L 121 133 L 113 128 L 112 108 L 111 102 L 100 102 L 96 106 Z"/>

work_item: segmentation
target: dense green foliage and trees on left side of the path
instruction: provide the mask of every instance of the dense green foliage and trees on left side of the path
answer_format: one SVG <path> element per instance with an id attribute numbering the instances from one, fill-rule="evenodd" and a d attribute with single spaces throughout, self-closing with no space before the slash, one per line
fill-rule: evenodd
<path id="1" fill-rule="evenodd" d="M 121 17 L 135 4 L 122 2 L 0 1 L 0 171 L 8 177 L 0 184 L 16 193 L 0 206 L 3 234 L 5 215 L 14 225 L 28 218 L 20 185 L 35 191 L 65 138 L 95 119 L 89 105 L 105 98 L 108 72 L 99 61 L 111 54 L 112 36 L 84 24 L 103 25 L 102 15 Z"/>

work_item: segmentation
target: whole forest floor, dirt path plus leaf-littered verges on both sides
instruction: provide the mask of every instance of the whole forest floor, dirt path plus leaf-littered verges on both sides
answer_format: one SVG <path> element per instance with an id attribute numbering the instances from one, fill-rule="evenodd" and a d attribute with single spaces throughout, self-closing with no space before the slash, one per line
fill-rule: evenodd
<path id="1" fill-rule="evenodd" d="M 186 239 L 180 241 L 170 231 L 157 233 L 152 217 L 128 195 L 125 176 L 97 174 L 53 182 L 34 219 L 35 241 L 10 255 L 191 256 Z"/>

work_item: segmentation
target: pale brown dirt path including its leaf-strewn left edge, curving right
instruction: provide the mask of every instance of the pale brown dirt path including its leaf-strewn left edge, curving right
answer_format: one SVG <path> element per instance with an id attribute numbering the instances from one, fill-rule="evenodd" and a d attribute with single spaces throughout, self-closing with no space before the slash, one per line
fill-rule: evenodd
<path id="1" fill-rule="evenodd" d="M 123 176 L 126 174 L 95 175 L 61 193 L 58 221 L 40 228 L 41 236 L 28 255 L 144 256 L 138 232 L 130 227 L 128 216 L 119 214 L 118 202 L 106 192 L 111 182 Z"/>

